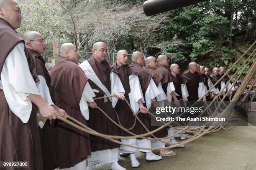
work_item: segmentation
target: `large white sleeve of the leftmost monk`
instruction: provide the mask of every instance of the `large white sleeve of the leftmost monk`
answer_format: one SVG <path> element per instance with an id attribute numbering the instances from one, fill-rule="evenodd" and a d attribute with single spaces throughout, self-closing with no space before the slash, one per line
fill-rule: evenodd
<path id="1" fill-rule="evenodd" d="M 23 123 L 28 122 L 32 103 L 27 96 L 40 95 L 40 92 L 29 71 L 23 43 L 16 45 L 6 58 L 1 72 L 1 81 L 10 110 Z"/>

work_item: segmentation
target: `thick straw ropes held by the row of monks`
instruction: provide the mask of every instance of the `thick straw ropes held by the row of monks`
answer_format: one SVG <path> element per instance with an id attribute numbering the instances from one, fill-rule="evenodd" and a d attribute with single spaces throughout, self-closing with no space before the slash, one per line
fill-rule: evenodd
<path id="1" fill-rule="evenodd" d="M 253 45 L 255 45 L 255 43 L 256 43 L 256 41 L 253 42 L 253 44 L 251 45 L 251 47 L 253 47 Z M 251 47 L 249 47 L 246 52 L 248 52 L 248 51 L 251 49 Z M 254 56 L 255 56 L 255 55 L 253 56 L 253 53 L 254 53 L 255 51 L 256 51 L 256 49 L 253 50 L 253 52 L 252 52 L 251 55 L 247 58 L 246 62 L 243 63 L 243 65 L 245 65 L 245 63 L 247 63 L 247 65 L 248 65 L 248 64 L 253 60 L 253 58 L 254 58 Z M 243 58 L 243 56 L 246 54 L 246 52 L 233 64 L 233 66 L 223 75 L 223 77 L 224 77 L 225 75 L 227 75 L 228 72 L 230 72 L 230 70 Z M 253 56 L 253 57 L 251 58 L 251 60 L 250 60 L 249 62 L 247 62 L 251 56 Z M 242 65 L 238 70 L 241 70 L 241 68 L 243 67 L 243 65 Z M 247 66 L 247 65 L 246 65 L 246 66 Z M 246 67 L 245 67 L 245 68 L 246 68 Z M 225 85 L 225 87 L 228 85 L 228 83 L 231 81 L 231 79 L 238 73 L 238 70 L 237 70 L 236 73 L 230 78 L 230 80 L 227 82 L 227 84 Z M 244 70 L 244 69 L 243 69 L 243 70 Z M 256 74 L 256 61 L 254 60 L 252 67 L 251 67 L 250 70 L 248 71 L 248 74 L 247 74 L 246 77 L 244 78 L 243 83 L 241 84 L 241 86 L 239 87 L 238 91 L 236 92 L 236 94 L 234 95 L 234 97 L 233 97 L 233 99 L 232 99 L 231 101 L 237 101 L 237 100 L 239 99 L 240 95 L 243 93 L 244 89 L 245 89 L 246 86 L 247 86 L 246 83 L 248 83 L 248 81 L 251 80 L 253 77 L 254 77 L 254 81 L 253 81 L 253 82 L 255 82 L 255 80 L 256 80 L 256 79 L 255 79 L 255 74 Z M 240 76 L 241 76 L 241 74 L 237 77 L 237 79 L 238 79 Z M 218 81 L 215 83 L 214 86 L 216 86 L 216 85 L 223 79 L 223 77 L 221 77 L 220 80 L 218 80 Z M 213 86 L 213 87 L 214 87 L 214 86 Z M 211 87 L 205 94 L 207 94 L 208 92 L 210 92 L 210 90 L 211 90 L 213 87 Z M 230 90 L 229 90 L 229 91 L 230 91 Z M 227 95 L 228 95 L 228 92 L 223 96 L 223 99 L 224 99 Z M 247 94 L 246 94 L 246 95 L 247 95 Z M 255 93 L 254 93 L 254 95 L 255 95 Z M 219 96 L 220 96 L 220 94 L 218 94 L 218 95 L 212 100 L 212 102 L 214 102 Z M 99 98 L 95 98 L 95 100 L 97 100 L 97 99 L 102 99 L 102 98 L 105 98 L 105 97 L 113 97 L 113 96 L 99 97 Z M 223 102 L 223 99 L 221 100 L 221 102 Z M 198 101 L 200 101 L 200 100 L 202 100 L 202 97 L 201 97 Z M 129 107 L 131 108 L 131 105 L 128 103 L 127 100 L 126 100 L 126 102 L 127 102 L 127 104 L 129 105 Z M 210 103 L 210 105 L 212 104 L 212 102 Z M 194 103 L 194 105 L 195 105 L 195 104 L 196 104 L 196 103 Z M 204 112 L 210 107 L 210 105 L 208 105 L 207 108 L 205 108 Z M 193 106 L 193 105 L 192 105 L 192 106 Z M 218 104 L 218 107 L 216 108 L 215 112 L 218 110 L 219 107 L 220 107 L 220 104 Z M 225 110 L 223 110 L 223 112 L 222 112 L 219 116 L 227 116 L 228 113 L 229 113 L 228 111 L 231 110 L 232 107 L 233 107 L 232 104 L 231 104 L 231 105 L 228 105 L 228 106 L 225 108 Z M 183 141 L 183 142 L 178 143 L 177 145 L 172 145 L 172 146 L 164 147 L 164 148 L 143 148 L 143 147 L 135 147 L 135 146 L 133 146 L 133 145 L 127 145 L 127 144 L 125 144 L 125 143 L 121 143 L 120 141 L 118 141 L 118 140 L 116 140 L 116 139 L 145 138 L 145 137 L 148 136 L 148 135 L 153 135 L 154 133 L 156 133 L 157 131 L 161 130 L 162 128 L 164 128 L 164 127 L 166 127 L 166 126 L 170 126 L 170 123 L 171 123 L 171 122 L 165 123 L 164 125 L 162 125 L 161 127 L 157 128 L 156 130 L 153 130 L 153 131 L 149 131 L 148 129 L 146 129 L 146 130 L 148 131 L 148 133 L 144 133 L 144 134 L 141 134 L 141 135 L 135 135 L 135 134 L 129 132 L 129 130 L 131 130 L 132 128 L 134 128 L 134 126 L 135 126 L 135 124 L 136 124 L 136 120 L 138 120 L 138 122 L 140 122 L 140 123 L 143 125 L 143 123 L 138 119 L 138 116 L 137 116 L 137 115 L 138 115 L 139 113 L 141 113 L 141 112 L 137 112 L 136 114 L 134 114 L 133 110 L 131 109 L 132 112 L 133 112 L 133 114 L 135 115 L 136 119 L 134 120 L 134 124 L 133 124 L 133 126 L 132 126 L 131 128 L 124 128 L 124 127 L 120 124 L 120 120 L 119 120 L 119 119 L 118 119 L 118 122 L 119 122 L 119 124 L 118 124 L 118 123 L 116 123 L 114 120 L 112 120 L 102 109 L 100 109 L 99 107 L 98 107 L 98 109 L 99 109 L 106 117 L 108 117 L 108 119 L 110 119 L 111 122 L 113 122 L 115 125 L 117 125 L 117 126 L 118 126 L 119 128 L 121 128 L 122 130 L 124 130 L 124 131 L 126 131 L 126 132 L 132 134 L 133 136 L 115 136 L 115 135 L 105 135 L 105 134 L 97 133 L 95 130 L 92 130 L 91 128 L 87 127 L 86 125 L 83 125 L 81 122 L 75 120 L 74 118 L 72 118 L 72 117 L 70 117 L 70 116 L 67 116 L 67 117 L 68 117 L 70 120 L 73 120 L 74 122 L 76 122 L 77 124 L 75 124 L 75 123 L 73 123 L 73 122 L 71 122 L 71 121 L 69 121 L 69 120 L 66 120 L 66 119 L 64 119 L 63 117 L 60 117 L 60 116 L 57 116 L 57 119 L 62 120 L 62 121 L 64 121 L 64 122 L 66 122 L 67 124 L 72 125 L 74 128 L 77 128 L 77 129 L 79 129 L 79 130 L 81 130 L 81 131 L 83 131 L 83 132 L 89 133 L 89 134 L 91 134 L 91 135 L 96 135 L 96 136 L 99 136 L 99 137 L 102 137 L 102 138 L 106 138 L 106 139 L 108 139 L 108 140 L 110 140 L 110 141 L 112 141 L 112 142 L 118 143 L 118 144 L 120 144 L 120 145 L 125 145 L 125 146 L 128 146 L 128 147 L 137 148 L 137 149 L 147 149 L 147 150 L 171 149 L 171 148 L 175 148 L 175 147 L 177 147 L 177 146 L 179 146 L 179 145 L 187 144 L 187 143 L 189 143 L 189 142 L 192 142 L 192 141 L 196 140 L 197 138 L 202 137 L 203 135 L 205 135 L 205 134 L 207 134 L 207 133 L 215 132 L 215 131 L 218 131 L 218 130 L 220 130 L 220 129 L 222 129 L 222 128 L 223 128 L 223 129 L 227 129 L 227 128 L 224 128 L 223 126 L 225 125 L 226 122 L 228 122 L 228 121 L 226 121 L 226 122 L 224 123 L 224 125 L 221 125 L 221 126 L 220 126 L 221 123 L 213 122 L 212 126 L 210 126 L 207 130 L 204 129 L 205 126 L 201 126 L 201 127 L 199 127 L 199 128 L 189 128 L 188 126 L 187 126 L 187 127 L 184 127 L 183 129 L 176 128 L 176 129 L 180 130 L 180 132 L 183 131 L 183 130 L 186 130 L 186 129 L 195 130 L 195 131 L 197 131 L 197 134 L 195 134 L 194 136 L 192 136 L 191 138 L 189 138 L 189 139 L 187 139 L 187 140 L 185 140 L 185 141 Z M 214 115 L 215 112 L 212 113 L 212 115 Z M 203 112 L 202 112 L 202 113 L 203 113 Z M 202 114 L 202 113 L 201 113 L 201 114 Z M 117 113 L 116 113 L 116 114 L 117 114 Z M 141 114 L 142 114 L 142 113 L 141 113 Z M 151 116 L 154 116 L 154 115 L 153 115 L 152 113 L 150 113 L 150 112 L 148 112 L 148 114 L 151 115 Z M 222 124 L 223 124 L 223 123 L 222 123 Z M 145 126 L 145 125 L 144 125 L 144 126 Z M 170 127 L 172 127 L 172 126 L 170 126 Z M 146 127 L 144 127 L 144 128 L 146 128 Z M 175 127 L 172 127 L 172 128 L 175 128 Z M 232 127 L 232 128 L 233 128 L 233 127 Z M 200 130 L 198 130 L 198 129 L 200 129 Z M 179 134 L 179 132 L 178 132 L 178 133 L 175 133 L 174 135 L 177 135 L 177 134 Z M 172 135 L 172 136 L 174 136 L 174 135 Z M 154 136 L 154 135 L 153 135 L 153 136 Z M 166 138 L 154 138 L 154 139 L 145 138 L 145 139 L 150 139 L 150 140 L 162 140 L 162 139 L 171 138 L 172 136 L 168 136 L 168 137 L 166 137 Z"/>

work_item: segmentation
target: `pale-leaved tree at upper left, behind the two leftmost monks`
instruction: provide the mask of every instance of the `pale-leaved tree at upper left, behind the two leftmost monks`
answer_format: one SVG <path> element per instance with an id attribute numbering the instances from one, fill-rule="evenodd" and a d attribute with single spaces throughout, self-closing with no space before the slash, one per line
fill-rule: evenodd
<path id="1" fill-rule="evenodd" d="M 20 0 L 23 20 L 18 33 L 26 31 L 40 32 L 47 40 L 47 46 L 52 47 L 54 37 L 66 39 L 66 21 L 61 18 L 61 9 L 51 0 Z"/>

